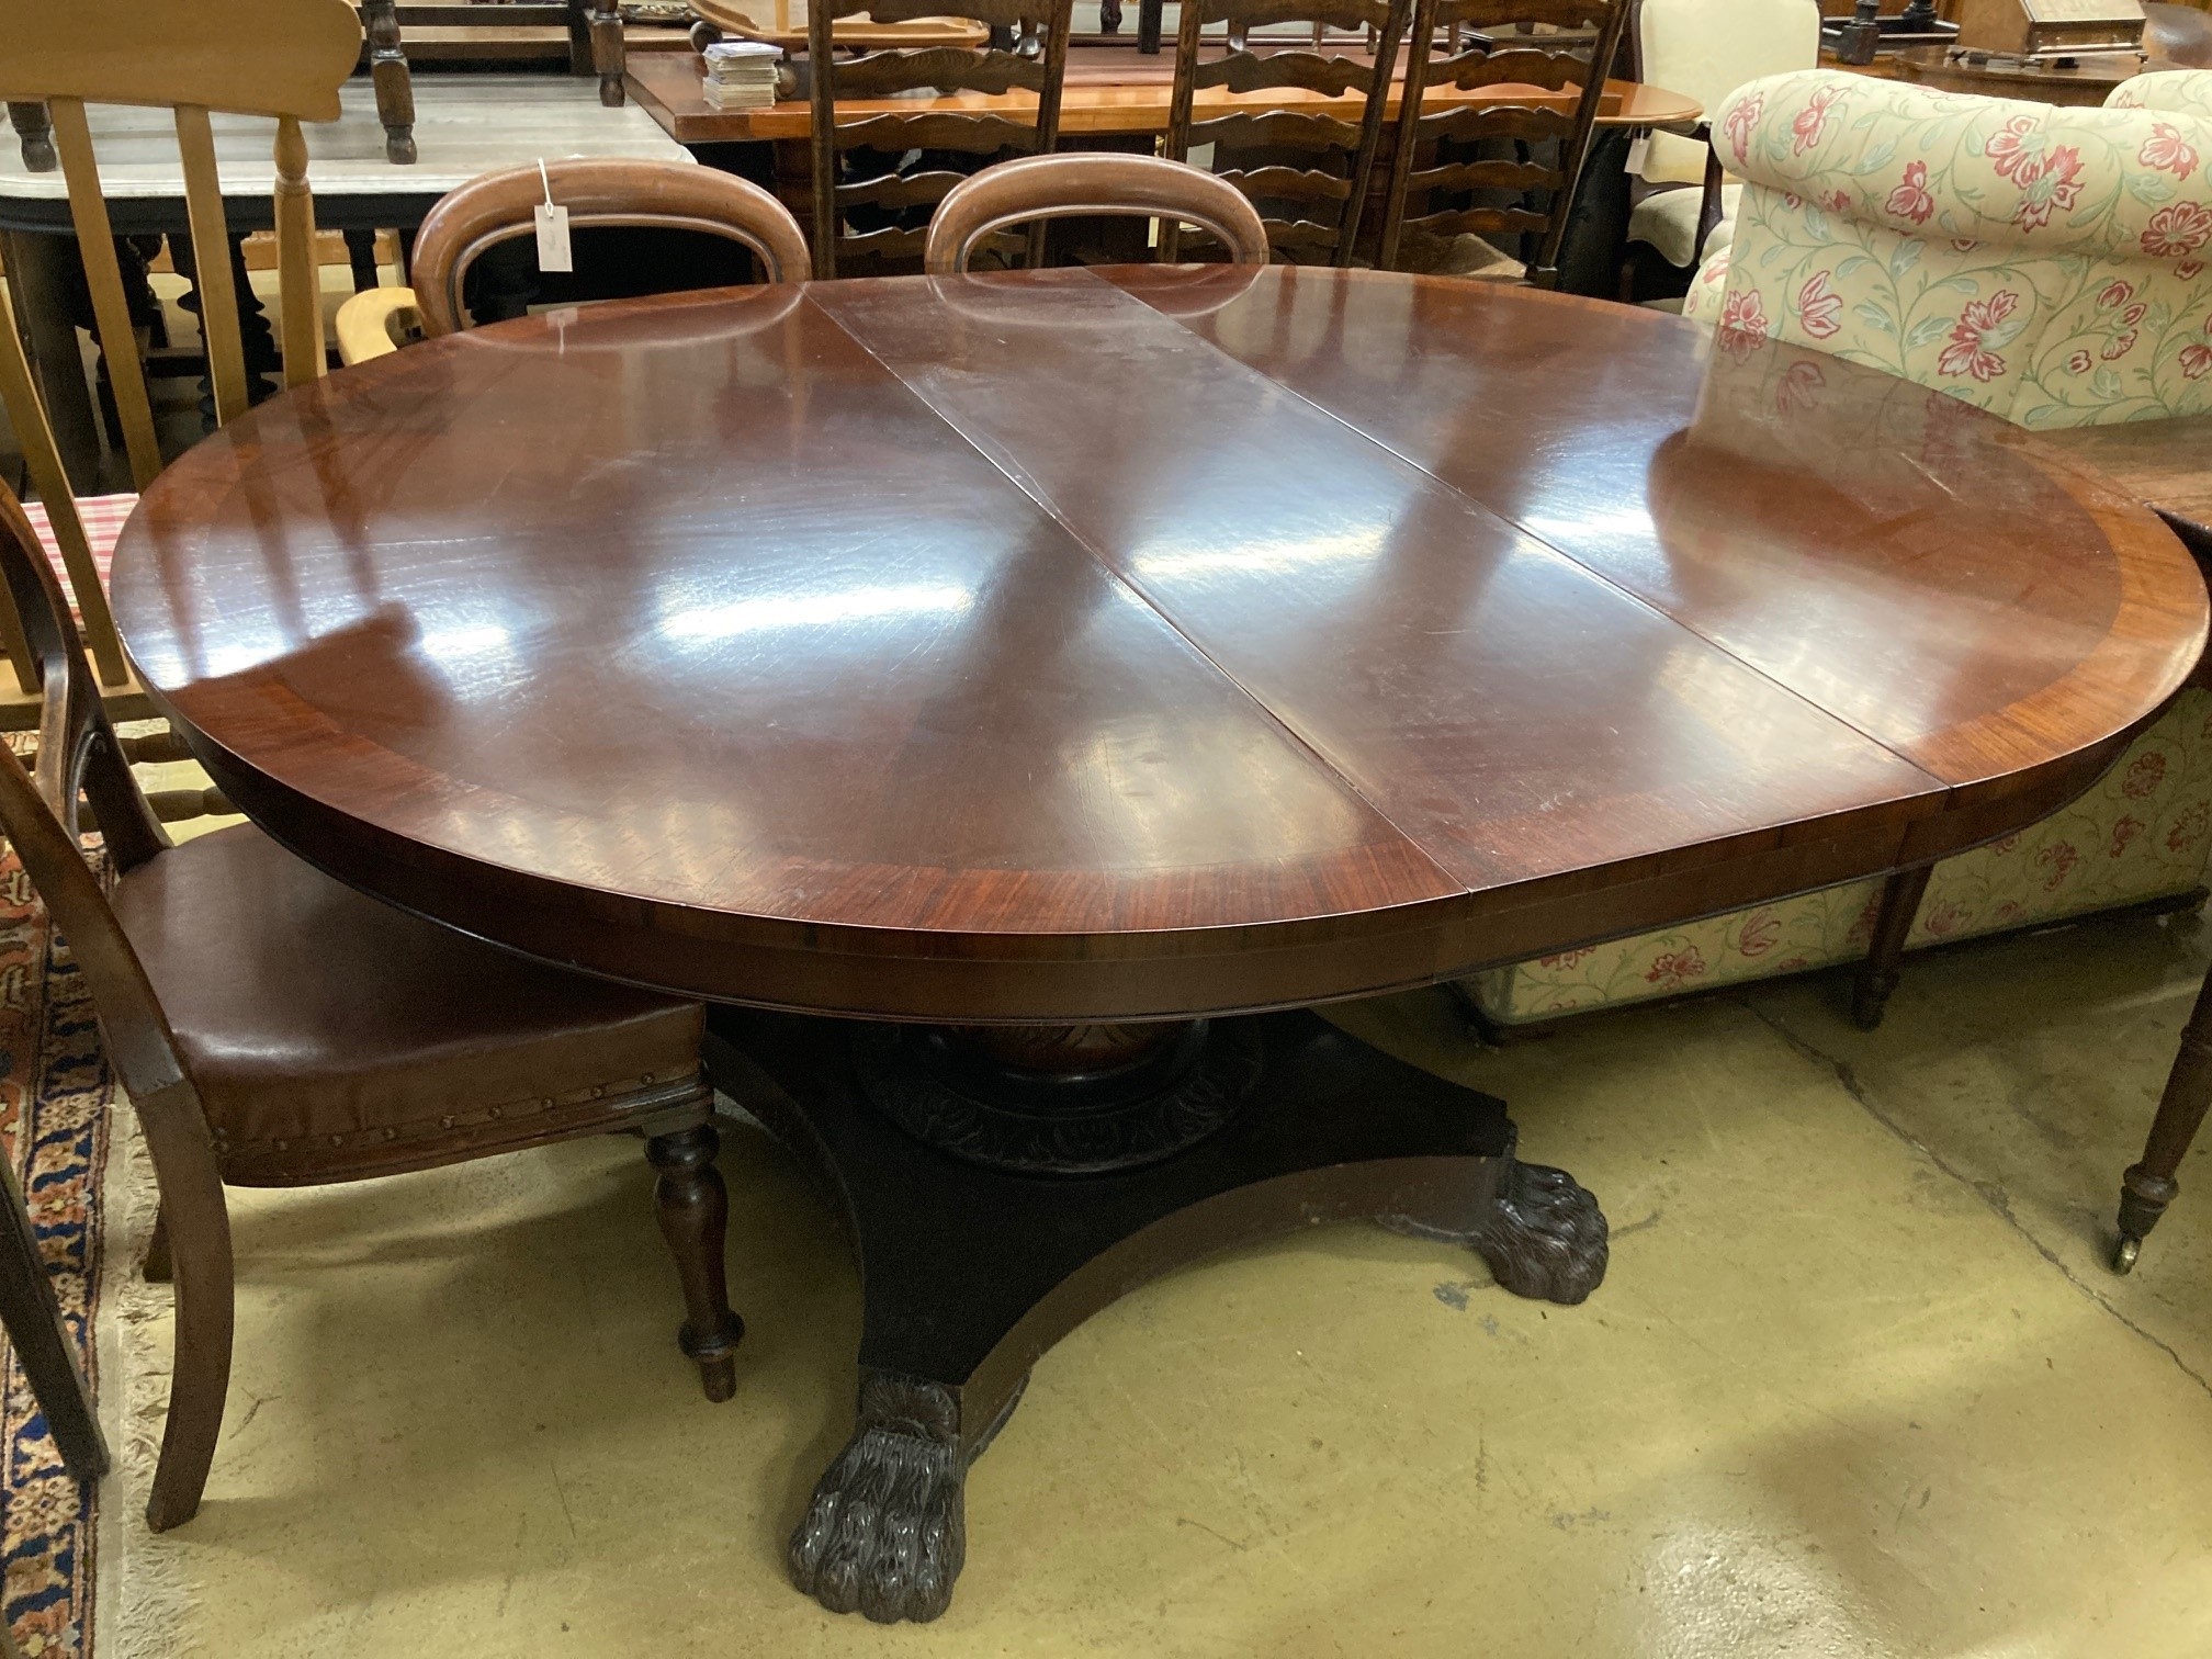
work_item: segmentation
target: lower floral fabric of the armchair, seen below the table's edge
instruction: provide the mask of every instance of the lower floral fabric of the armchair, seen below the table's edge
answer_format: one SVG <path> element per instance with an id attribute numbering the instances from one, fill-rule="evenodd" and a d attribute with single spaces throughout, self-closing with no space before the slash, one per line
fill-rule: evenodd
<path id="1" fill-rule="evenodd" d="M 1936 865 L 1907 951 L 2188 894 L 2212 849 L 2212 692 L 2183 690 L 2079 801 Z M 1880 880 L 1586 945 L 1462 980 L 1495 1024 L 1856 962 Z"/>

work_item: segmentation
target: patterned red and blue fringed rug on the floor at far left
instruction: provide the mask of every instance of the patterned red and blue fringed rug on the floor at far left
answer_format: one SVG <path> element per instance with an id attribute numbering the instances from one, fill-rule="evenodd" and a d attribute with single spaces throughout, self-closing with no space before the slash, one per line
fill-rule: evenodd
<path id="1" fill-rule="evenodd" d="M 38 1228 L 62 1316 L 100 1391 L 95 1329 L 113 1082 L 84 978 L 15 854 L 0 849 L 0 1146 Z M 91 1652 L 95 1493 L 62 1469 L 22 1367 L 0 1383 L 0 1610 L 24 1659 Z"/>

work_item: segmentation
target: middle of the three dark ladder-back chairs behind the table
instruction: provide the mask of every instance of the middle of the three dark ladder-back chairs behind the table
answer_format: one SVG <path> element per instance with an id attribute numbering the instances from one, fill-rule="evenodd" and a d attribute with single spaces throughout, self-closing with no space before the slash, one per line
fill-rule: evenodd
<path id="1" fill-rule="evenodd" d="M 1164 155 L 1188 161 L 1194 146 L 1214 146 L 1214 173 L 1259 208 L 1274 252 L 1303 263 L 1349 265 L 1374 181 L 1391 69 L 1405 38 L 1409 0 L 1186 0 L 1175 38 L 1175 93 Z M 1228 53 L 1203 31 L 1225 24 Z M 1254 51 L 1250 31 L 1310 24 L 1312 49 Z M 1369 51 L 1343 42 L 1329 51 L 1327 29 L 1363 31 Z M 1281 46 L 1285 42 L 1261 44 Z M 1336 100 L 1360 93 L 1354 115 L 1343 106 L 1234 111 L 1197 119 L 1197 95 L 1290 88 Z M 1274 102 L 1274 100 L 1270 100 Z M 1276 159 L 1287 157 L 1287 159 Z M 1181 237 L 1161 226 L 1159 257 L 1175 261 Z"/>

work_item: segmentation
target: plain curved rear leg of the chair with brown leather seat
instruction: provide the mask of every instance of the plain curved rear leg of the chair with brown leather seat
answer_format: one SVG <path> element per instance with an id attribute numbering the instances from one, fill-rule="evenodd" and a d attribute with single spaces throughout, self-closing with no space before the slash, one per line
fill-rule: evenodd
<path id="1" fill-rule="evenodd" d="M 199 1104 L 139 1104 L 139 1121 L 161 1186 L 161 1230 L 168 1234 L 177 1298 L 168 1422 L 146 1500 L 146 1524 L 166 1533 L 199 1513 L 215 1438 L 223 1429 L 232 1332 L 230 1212 Z"/>

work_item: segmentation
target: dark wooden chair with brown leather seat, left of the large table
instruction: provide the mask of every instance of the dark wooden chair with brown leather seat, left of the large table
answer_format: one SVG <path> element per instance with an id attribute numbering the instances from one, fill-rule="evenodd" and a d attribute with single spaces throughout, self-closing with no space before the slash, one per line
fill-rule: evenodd
<path id="1" fill-rule="evenodd" d="M 684 1285 L 679 1345 L 708 1398 L 728 1400 L 743 1325 L 723 1279 L 728 1199 L 699 1004 L 407 916 L 252 825 L 170 845 L 4 487 L 0 577 L 42 688 L 35 776 L 0 745 L 0 834 L 69 938 L 161 1194 L 146 1272 L 175 1281 L 177 1354 L 148 1524 L 199 1509 L 223 1422 L 226 1183 L 321 1186 L 644 1133 Z M 88 821 L 106 880 L 82 845 Z"/>

